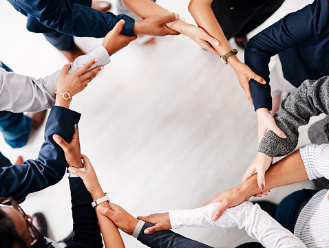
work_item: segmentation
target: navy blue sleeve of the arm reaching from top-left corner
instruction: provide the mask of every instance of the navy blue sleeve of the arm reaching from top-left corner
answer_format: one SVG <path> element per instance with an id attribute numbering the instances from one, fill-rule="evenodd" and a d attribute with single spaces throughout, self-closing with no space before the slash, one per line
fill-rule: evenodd
<path id="1" fill-rule="evenodd" d="M 100 12 L 69 0 L 8 0 L 25 15 L 35 17 L 41 24 L 58 32 L 78 37 L 103 38 L 120 19 L 125 20 L 121 32 L 134 36 L 134 19 L 112 12 Z M 24 11 L 22 11 L 24 10 Z M 25 12 L 25 13 L 24 13 Z M 34 30 L 30 30 L 34 32 Z"/>

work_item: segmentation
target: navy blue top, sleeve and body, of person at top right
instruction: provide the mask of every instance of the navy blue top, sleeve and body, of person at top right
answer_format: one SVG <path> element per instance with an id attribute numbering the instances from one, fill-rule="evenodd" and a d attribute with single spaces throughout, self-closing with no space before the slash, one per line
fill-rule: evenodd
<path id="1" fill-rule="evenodd" d="M 245 63 L 266 80 L 250 80 L 255 110 L 272 109 L 270 97 L 270 57 L 279 54 L 284 78 L 295 87 L 306 79 L 317 80 L 329 74 L 329 3 L 315 0 L 288 14 L 246 45 Z"/>

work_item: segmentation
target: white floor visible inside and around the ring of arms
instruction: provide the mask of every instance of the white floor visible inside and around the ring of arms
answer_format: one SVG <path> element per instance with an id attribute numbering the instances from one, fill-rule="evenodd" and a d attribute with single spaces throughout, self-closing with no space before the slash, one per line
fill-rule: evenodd
<path id="1" fill-rule="evenodd" d="M 253 34 L 309 2 L 286 0 Z M 193 21 L 189 1 L 159 3 Z M 17 73 L 39 78 L 67 63 L 43 35 L 25 29 L 25 16 L 7 1 L 0 3 L 0 23 L 0 58 Z M 88 51 L 101 39 L 76 38 L 76 43 Z M 242 50 L 238 56 L 243 60 Z M 158 38 L 149 47 L 131 43 L 112 56 L 71 109 L 83 114 L 82 153 L 91 159 L 103 189 L 134 216 L 200 207 L 240 183 L 257 151 L 255 112 L 233 70 L 182 35 Z M 299 146 L 309 143 L 306 131 L 301 128 Z M 43 130 L 24 148 L 13 150 L 2 137 L 0 147 L 14 162 L 18 155 L 35 159 L 42 142 Z M 266 199 L 278 203 L 301 188 L 312 183 L 273 190 Z M 23 208 L 43 212 L 52 238 L 64 238 L 72 230 L 67 177 L 30 194 Z M 214 247 L 251 240 L 239 229 L 183 228 L 180 233 Z M 144 247 L 126 234 L 123 238 L 127 247 Z"/>

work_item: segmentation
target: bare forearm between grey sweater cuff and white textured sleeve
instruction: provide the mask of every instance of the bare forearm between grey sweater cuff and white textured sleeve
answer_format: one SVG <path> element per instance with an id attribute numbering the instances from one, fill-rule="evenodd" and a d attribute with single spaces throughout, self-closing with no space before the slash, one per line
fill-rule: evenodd
<path id="1" fill-rule="evenodd" d="M 299 150 L 270 166 L 265 173 L 266 185 L 264 190 L 270 190 L 283 185 L 299 183 L 308 180 L 308 174 L 301 159 Z M 248 201 L 251 196 L 264 190 L 260 190 L 257 184 L 257 174 L 246 182 L 235 187 L 235 190 L 245 196 Z"/>

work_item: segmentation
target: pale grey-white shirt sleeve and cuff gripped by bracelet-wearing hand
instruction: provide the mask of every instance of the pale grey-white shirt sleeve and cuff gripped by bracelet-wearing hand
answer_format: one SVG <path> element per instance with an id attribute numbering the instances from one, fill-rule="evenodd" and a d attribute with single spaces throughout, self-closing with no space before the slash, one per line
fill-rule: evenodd
<path id="1" fill-rule="evenodd" d="M 69 73 L 81 68 L 92 58 L 98 58 L 98 61 L 90 69 L 110 62 L 105 47 L 98 45 L 86 55 L 76 58 L 74 63 L 71 63 Z M 36 80 L 29 76 L 8 72 L 0 66 L 0 111 L 22 113 L 50 109 L 55 104 L 54 92 L 56 92 L 56 81 L 60 72 L 61 70 Z"/>

